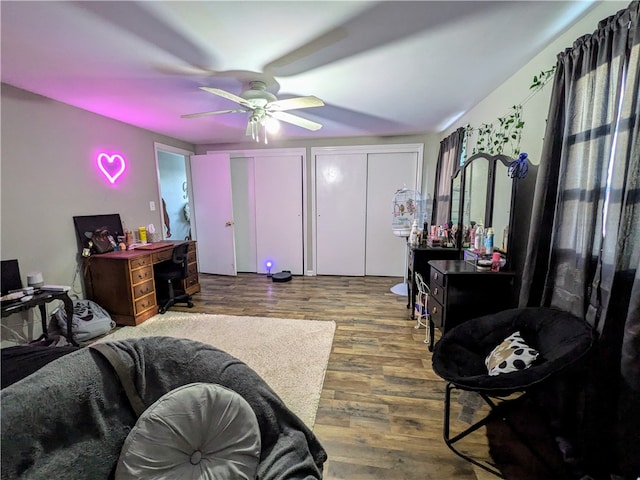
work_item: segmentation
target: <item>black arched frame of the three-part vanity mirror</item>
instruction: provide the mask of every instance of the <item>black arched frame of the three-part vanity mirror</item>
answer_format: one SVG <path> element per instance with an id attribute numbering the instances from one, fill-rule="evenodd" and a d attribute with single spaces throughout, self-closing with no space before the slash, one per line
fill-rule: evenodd
<path id="1" fill-rule="evenodd" d="M 451 209 L 449 211 L 449 218 L 453 218 L 452 213 L 453 213 L 453 209 L 457 208 L 458 210 L 458 233 L 457 233 L 457 239 L 456 239 L 456 244 L 458 245 L 458 248 L 460 249 L 460 252 L 464 251 L 464 248 L 462 246 L 462 240 L 463 240 L 463 234 L 464 234 L 464 202 L 465 202 L 465 192 L 466 192 L 466 188 L 465 188 L 465 180 L 466 180 L 466 172 L 467 172 L 467 168 L 469 168 L 469 165 L 472 165 L 473 162 L 476 161 L 487 161 L 489 163 L 488 166 L 488 175 L 487 175 L 487 198 L 486 198 L 486 203 L 485 203 L 485 214 L 484 214 L 484 222 L 483 225 L 485 227 L 487 226 L 492 226 L 493 223 L 493 214 L 494 214 L 494 201 L 495 201 L 495 180 L 496 180 L 496 172 L 497 172 L 497 165 L 498 162 L 502 163 L 504 166 L 508 167 L 509 164 L 511 162 L 514 161 L 513 158 L 508 157 L 506 155 L 490 155 L 488 153 L 484 153 L 484 152 L 480 152 L 480 153 L 476 153 L 475 155 L 467 158 L 464 163 L 462 165 L 460 165 L 454 172 L 453 175 L 451 176 L 451 189 L 453 191 L 453 184 L 454 181 L 456 180 L 456 178 L 458 177 L 458 175 L 461 175 L 460 177 L 460 198 L 459 198 L 459 203 L 458 205 L 454 205 L 453 202 L 451 203 Z M 509 230 L 507 231 L 507 252 L 506 252 L 506 260 L 507 263 L 505 265 L 505 268 L 509 267 L 509 243 L 510 243 L 510 238 L 511 238 L 511 228 L 513 226 L 513 219 L 514 219 L 514 208 L 515 208 L 515 201 L 516 201 L 516 190 L 517 190 L 517 179 L 511 179 L 512 181 L 512 187 L 511 187 L 511 195 L 510 195 L 510 210 L 509 210 L 509 220 L 508 220 L 508 226 L 509 226 Z"/>

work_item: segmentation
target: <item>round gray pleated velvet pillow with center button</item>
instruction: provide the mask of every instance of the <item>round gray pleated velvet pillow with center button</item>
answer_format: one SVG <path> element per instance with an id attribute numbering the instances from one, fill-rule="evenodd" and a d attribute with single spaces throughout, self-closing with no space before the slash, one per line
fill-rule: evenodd
<path id="1" fill-rule="evenodd" d="M 116 480 L 254 479 L 260 429 L 247 401 L 212 383 L 166 393 L 125 439 Z"/>

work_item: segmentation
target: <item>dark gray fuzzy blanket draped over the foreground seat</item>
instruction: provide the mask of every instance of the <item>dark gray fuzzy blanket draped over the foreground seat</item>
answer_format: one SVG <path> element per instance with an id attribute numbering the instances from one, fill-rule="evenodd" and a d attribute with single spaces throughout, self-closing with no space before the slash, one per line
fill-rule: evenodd
<path id="1" fill-rule="evenodd" d="M 321 479 L 326 452 L 245 363 L 191 340 L 112 342 L 147 406 L 194 382 L 234 390 L 254 410 L 262 441 L 258 479 Z M 70 353 L 1 393 L 2 479 L 108 479 L 136 416 L 111 365 L 91 349 Z"/>

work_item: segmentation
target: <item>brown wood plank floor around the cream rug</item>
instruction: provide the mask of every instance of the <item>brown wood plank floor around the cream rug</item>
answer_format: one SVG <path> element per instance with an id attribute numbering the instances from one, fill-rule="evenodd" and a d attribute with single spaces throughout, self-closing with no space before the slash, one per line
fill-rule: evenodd
<path id="1" fill-rule="evenodd" d="M 201 274 L 194 308 L 172 309 L 336 322 L 314 426 L 329 455 L 324 478 L 495 478 L 476 472 L 442 440 L 445 384 L 431 368 L 424 328 L 414 328 L 407 297 L 390 291 L 400 281 L 294 276 L 273 283 L 265 275 Z M 463 448 L 488 458 L 484 430 Z"/>

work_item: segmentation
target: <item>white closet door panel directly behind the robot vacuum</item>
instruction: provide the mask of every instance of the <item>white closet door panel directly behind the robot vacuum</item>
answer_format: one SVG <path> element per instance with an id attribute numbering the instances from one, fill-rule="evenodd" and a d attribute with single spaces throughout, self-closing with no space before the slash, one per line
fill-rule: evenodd
<path id="1" fill-rule="evenodd" d="M 257 272 L 302 275 L 302 157 L 256 156 L 254 172 Z"/>

